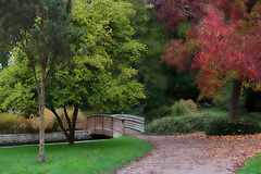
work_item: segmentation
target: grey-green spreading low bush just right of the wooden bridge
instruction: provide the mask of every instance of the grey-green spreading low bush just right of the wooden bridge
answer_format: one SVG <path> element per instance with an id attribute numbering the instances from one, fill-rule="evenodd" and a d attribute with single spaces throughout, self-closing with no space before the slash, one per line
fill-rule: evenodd
<path id="1" fill-rule="evenodd" d="M 225 116 L 224 112 L 201 112 L 185 116 L 163 117 L 146 125 L 146 134 L 150 135 L 173 135 L 203 132 L 209 120 Z"/>

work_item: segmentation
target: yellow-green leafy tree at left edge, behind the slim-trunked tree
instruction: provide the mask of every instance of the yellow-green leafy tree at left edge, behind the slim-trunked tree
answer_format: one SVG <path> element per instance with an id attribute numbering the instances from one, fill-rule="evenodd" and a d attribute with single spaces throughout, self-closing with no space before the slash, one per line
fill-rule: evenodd
<path id="1" fill-rule="evenodd" d="M 28 60 L 11 64 L 0 73 L 0 111 L 20 115 L 38 114 L 37 89 Z"/>

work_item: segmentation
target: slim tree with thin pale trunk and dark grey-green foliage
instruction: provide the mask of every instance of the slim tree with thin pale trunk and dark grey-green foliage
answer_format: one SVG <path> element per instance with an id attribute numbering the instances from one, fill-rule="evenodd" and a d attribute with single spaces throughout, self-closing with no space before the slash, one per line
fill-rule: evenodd
<path id="1" fill-rule="evenodd" d="M 57 64 L 70 58 L 72 0 L 1 0 L 0 35 L 26 54 L 39 100 L 39 161 L 45 161 L 45 91 Z M 39 66 L 40 76 L 36 69 Z"/>

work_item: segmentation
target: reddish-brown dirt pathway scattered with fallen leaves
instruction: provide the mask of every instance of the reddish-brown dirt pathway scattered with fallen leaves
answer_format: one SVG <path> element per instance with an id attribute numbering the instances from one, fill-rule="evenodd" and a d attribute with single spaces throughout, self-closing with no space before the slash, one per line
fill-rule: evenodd
<path id="1" fill-rule="evenodd" d="M 117 174 L 231 174 L 247 157 L 261 149 L 261 135 L 217 136 L 204 134 L 144 136 L 153 150 Z"/>

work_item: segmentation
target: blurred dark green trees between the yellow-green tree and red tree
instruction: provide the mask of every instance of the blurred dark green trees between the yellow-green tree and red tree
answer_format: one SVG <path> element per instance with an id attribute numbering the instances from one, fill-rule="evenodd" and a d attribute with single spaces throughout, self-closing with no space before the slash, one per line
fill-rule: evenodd
<path id="1" fill-rule="evenodd" d="M 132 111 L 134 114 L 144 114 L 147 120 L 162 117 L 169 114 L 169 108 L 175 100 L 197 99 L 198 89 L 195 85 L 195 76 L 189 72 L 177 74 L 176 70 L 160 63 L 165 45 L 173 37 L 185 37 L 189 25 L 181 24 L 178 29 L 165 34 L 166 25 L 159 25 L 154 17 L 153 5 L 140 0 L 132 0 L 136 10 L 130 18 L 136 33 L 133 38 L 147 46 L 147 52 L 135 64 L 139 70 L 139 80 L 145 85 L 146 100 L 141 105 Z"/>

